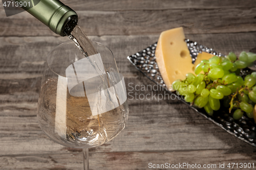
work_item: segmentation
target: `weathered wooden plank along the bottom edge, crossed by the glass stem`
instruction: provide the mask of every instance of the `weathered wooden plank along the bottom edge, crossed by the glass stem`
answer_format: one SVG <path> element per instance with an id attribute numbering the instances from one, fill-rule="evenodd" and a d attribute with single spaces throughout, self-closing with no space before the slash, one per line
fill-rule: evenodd
<path id="1" fill-rule="evenodd" d="M 90 150 L 89 150 L 90 153 Z M 171 169 L 172 165 L 177 168 L 188 169 L 190 167 L 201 169 L 229 169 L 228 163 L 253 163 L 255 155 L 252 151 L 237 150 L 201 150 L 201 151 L 178 151 L 178 152 L 126 152 L 126 153 L 90 153 L 89 166 L 90 169 L 112 169 L 112 170 L 130 170 L 130 169 L 148 169 L 151 164 L 170 164 L 170 167 L 153 168 L 153 169 Z M 184 164 L 183 167 L 179 166 Z M 209 164 L 209 165 L 208 165 Z M 224 164 L 225 168 L 221 168 L 220 164 Z M 199 165 L 201 168 L 198 168 Z M 207 168 L 208 165 L 208 168 Z M 230 164 L 232 167 L 232 164 Z M 254 163 L 255 166 L 255 163 Z M 13 169 L 83 169 L 81 152 L 70 154 L 51 154 L 51 155 L 17 155 L 0 157 L 0 168 L 5 170 Z M 210 168 L 209 168 L 210 167 Z M 254 167 L 255 168 L 255 167 Z M 244 169 L 254 169 L 250 168 Z M 191 168 L 192 169 L 192 168 Z M 238 169 L 238 168 L 230 168 Z"/>

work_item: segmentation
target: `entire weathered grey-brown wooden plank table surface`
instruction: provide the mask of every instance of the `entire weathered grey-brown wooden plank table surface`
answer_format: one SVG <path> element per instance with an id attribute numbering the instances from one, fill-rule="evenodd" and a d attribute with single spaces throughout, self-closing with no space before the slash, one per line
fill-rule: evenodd
<path id="1" fill-rule="evenodd" d="M 183 27 L 186 38 L 223 54 L 256 48 L 255 0 L 62 2 L 77 12 L 78 25 L 91 40 L 111 48 L 127 92 L 133 94 L 164 94 L 163 90 L 132 90 L 135 85 L 154 84 L 126 59 L 156 42 L 164 30 Z M 47 54 L 67 37 L 55 35 L 27 12 L 6 17 L 0 5 L 0 169 L 83 169 L 81 150 L 50 140 L 36 119 Z M 254 162 L 256 167 L 255 147 L 179 100 L 128 99 L 125 129 L 112 141 L 89 150 L 90 169 L 152 169 L 148 163 L 166 162 L 217 164 L 215 169 L 220 169 L 220 163 Z"/>

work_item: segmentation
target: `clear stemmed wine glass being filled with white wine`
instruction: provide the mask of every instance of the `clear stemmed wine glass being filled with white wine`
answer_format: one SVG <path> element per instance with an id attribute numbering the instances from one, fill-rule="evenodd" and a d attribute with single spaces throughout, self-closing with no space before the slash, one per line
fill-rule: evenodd
<path id="1" fill-rule="evenodd" d="M 55 142 L 83 150 L 116 137 L 129 109 L 124 79 L 111 50 L 92 42 L 98 54 L 85 57 L 72 41 L 55 47 L 47 57 L 38 100 L 40 128 Z"/>

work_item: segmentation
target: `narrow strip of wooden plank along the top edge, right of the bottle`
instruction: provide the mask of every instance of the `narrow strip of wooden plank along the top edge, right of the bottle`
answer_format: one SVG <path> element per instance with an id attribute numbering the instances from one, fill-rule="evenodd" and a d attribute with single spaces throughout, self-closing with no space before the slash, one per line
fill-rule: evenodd
<path id="1" fill-rule="evenodd" d="M 207 0 L 190 0 L 190 1 L 168 1 L 168 0 L 62 0 L 64 4 L 70 6 L 74 10 L 97 10 L 97 11 L 113 11 L 113 10 L 164 10 L 164 9 L 222 9 L 222 8 L 246 8 L 255 3 L 253 0 L 247 1 L 207 1 Z"/>

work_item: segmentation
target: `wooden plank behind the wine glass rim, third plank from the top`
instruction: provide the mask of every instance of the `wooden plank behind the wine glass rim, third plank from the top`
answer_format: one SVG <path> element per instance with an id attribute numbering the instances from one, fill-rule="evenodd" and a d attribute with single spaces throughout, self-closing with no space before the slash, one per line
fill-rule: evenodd
<path id="1" fill-rule="evenodd" d="M 144 36 L 89 36 L 108 46 L 116 59 L 122 74 L 136 74 L 138 71 L 126 59 L 158 40 L 159 35 Z M 186 38 L 197 41 L 215 50 L 237 55 L 249 51 L 256 45 L 256 33 L 236 34 L 186 34 Z M 67 37 L 0 37 L 0 79 L 29 79 L 39 77 L 44 71 L 48 53 L 58 44 L 68 41 Z M 29 52 L 29 53 L 28 53 Z M 6 74 L 15 74 L 8 75 Z M 31 75 L 32 74 L 32 75 Z M 0 83 L 1 84 L 1 83 Z"/>

